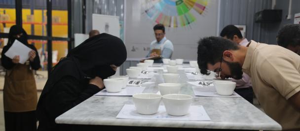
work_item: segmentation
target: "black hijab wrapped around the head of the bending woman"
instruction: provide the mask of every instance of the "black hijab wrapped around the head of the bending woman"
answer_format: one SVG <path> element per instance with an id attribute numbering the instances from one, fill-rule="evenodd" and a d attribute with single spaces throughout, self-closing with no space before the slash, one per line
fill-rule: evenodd
<path id="1" fill-rule="evenodd" d="M 120 38 L 101 33 L 75 47 L 67 57 L 75 58 L 85 76 L 105 79 L 115 73 L 110 65 L 121 66 L 127 53 Z"/>

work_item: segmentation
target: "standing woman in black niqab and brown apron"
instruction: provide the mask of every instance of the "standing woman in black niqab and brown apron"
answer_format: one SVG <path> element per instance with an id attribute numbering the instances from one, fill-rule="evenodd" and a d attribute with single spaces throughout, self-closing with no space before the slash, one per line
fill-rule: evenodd
<path id="1" fill-rule="evenodd" d="M 12 59 L 5 52 L 15 40 L 31 48 L 29 59 L 20 64 L 20 57 Z M 36 106 L 38 102 L 37 86 L 33 69 L 40 67 L 37 49 L 27 42 L 27 33 L 20 26 L 12 26 L 8 33 L 7 45 L 1 54 L 2 66 L 6 69 L 3 88 L 5 131 L 35 131 L 37 129 Z M 26 56 L 27 57 L 27 56 Z"/>

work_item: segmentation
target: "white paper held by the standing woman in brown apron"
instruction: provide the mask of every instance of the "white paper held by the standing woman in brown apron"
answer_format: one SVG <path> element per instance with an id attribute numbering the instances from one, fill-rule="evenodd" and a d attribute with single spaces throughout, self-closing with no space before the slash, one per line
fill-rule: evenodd
<path id="1" fill-rule="evenodd" d="M 10 59 L 13 59 L 15 56 L 20 56 L 19 63 L 24 64 L 29 59 L 29 52 L 31 50 L 32 49 L 30 49 L 20 41 L 15 40 L 4 55 Z"/>

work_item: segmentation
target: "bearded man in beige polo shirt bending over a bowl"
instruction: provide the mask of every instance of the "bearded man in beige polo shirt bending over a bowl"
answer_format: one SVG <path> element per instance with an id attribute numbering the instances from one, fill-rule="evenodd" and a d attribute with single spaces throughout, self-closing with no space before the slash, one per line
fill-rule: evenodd
<path id="1" fill-rule="evenodd" d="M 245 47 L 211 36 L 198 42 L 198 65 L 202 74 L 208 74 L 208 69 L 223 79 L 241 79 L 245 72 L 264 112 L 283 130 L 300 131 L 300 56 L 296 53 L 253 40 Z"/>

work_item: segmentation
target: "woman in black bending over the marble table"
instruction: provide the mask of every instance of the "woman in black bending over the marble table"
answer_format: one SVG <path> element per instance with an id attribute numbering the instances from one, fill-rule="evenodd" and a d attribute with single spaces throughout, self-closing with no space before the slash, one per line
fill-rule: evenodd
<path id="1" fill-rule="evenodd" d="M 127 58 L 123 41 L 107 33 L 88 38 L 54 66 L 38 100 L 38 131 L 73 131 L 55 118 L 104 88 Z"/>

